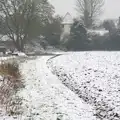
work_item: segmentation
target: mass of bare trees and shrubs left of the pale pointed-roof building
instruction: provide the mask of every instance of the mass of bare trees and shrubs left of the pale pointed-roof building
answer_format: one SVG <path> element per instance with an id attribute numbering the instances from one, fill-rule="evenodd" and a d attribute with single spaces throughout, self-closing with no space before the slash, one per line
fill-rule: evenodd
<path id="1" fill-rule="evenodd" d="M 24 51 L 36 38 L 52 45 L 60 38 L 61 17 L 54 16 L 48 0 L 2 0 L 0 12 L 0 34 L 7 36 L 18 51 Z"/>

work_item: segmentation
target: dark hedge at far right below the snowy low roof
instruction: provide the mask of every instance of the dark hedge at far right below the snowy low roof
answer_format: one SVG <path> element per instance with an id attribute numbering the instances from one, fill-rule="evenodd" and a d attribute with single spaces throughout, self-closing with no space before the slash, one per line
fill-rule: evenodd
<path id="1" fill-rule="evenodd" d="M 112 34 L 104 36 L 92 37 L 90 48 L 91 50 L 120 50 L 120 36 L 119 34 Z"/>

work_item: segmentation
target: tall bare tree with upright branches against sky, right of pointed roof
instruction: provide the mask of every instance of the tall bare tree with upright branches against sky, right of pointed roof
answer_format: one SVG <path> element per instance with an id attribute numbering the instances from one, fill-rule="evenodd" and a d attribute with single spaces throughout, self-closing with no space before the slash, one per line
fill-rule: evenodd
<path id="1" fill-rule="evenodd" d="M 91 27 L 102 13 L 104 0 L 76 0 L 76 10 L 86 27 Z"/>

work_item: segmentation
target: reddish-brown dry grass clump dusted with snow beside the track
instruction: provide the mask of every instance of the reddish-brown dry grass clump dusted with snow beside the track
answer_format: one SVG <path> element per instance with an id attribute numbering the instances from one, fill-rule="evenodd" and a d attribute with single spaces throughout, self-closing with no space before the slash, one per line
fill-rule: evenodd
<path id="1" fill-rule="evenodd" d="M 16 62 L 4 62 L 0 64 L 0 104 L 6 108 L 9 115 L 21 114 L 22 100 L 17 92 L 24 87 Z"/>

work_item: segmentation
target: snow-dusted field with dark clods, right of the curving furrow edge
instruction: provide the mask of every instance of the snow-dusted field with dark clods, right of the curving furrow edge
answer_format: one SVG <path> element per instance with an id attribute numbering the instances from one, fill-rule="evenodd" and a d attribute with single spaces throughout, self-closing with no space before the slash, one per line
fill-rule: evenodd
<path id="1" fill-rule="evenodd" d="M 54 74 L 101 120 L 120 120 L 120 52 L 77 52 L 48 62 Z"/>

